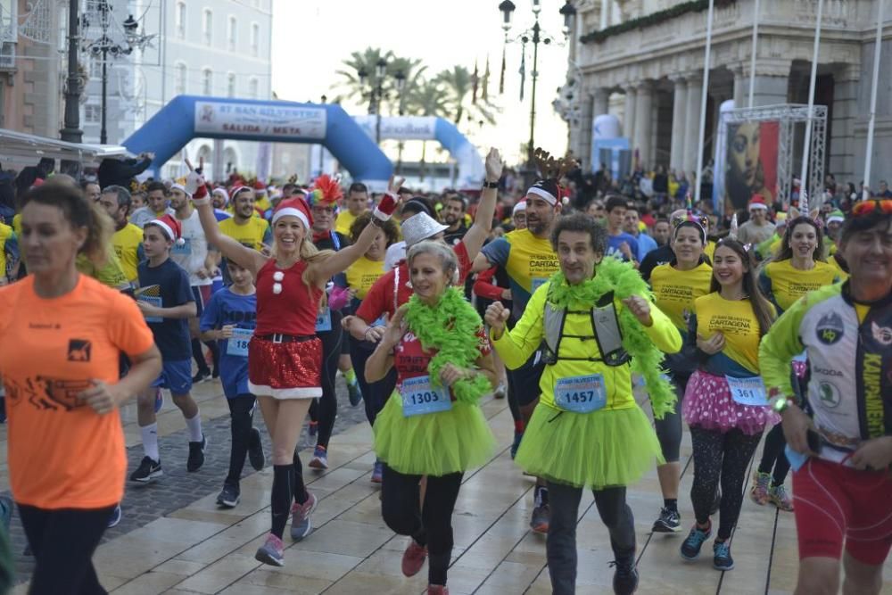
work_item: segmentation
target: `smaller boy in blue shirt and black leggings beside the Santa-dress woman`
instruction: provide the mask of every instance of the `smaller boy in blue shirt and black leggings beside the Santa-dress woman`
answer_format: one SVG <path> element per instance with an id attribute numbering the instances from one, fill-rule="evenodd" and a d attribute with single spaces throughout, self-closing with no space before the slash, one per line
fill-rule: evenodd
<path id="1" fill-rule="evenodd" d="M 202 341 L 219 341 L 220 381 L 232 417 L 230 430 L 229 474 L 217 504 L 233 508 L 240 500 L 239 480 L 244 459 L 251 460 L 257 471 L 263 468 L 263 446 L 260 432 L 252 427 L 254 395 L 248 390 L 248 342 L 257 325 L 257 296 L 251 271 L 227 261 L 232 285 L 211 296 L 202 313 Z"/>

